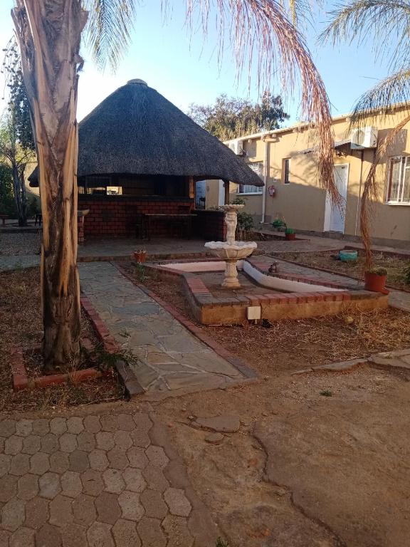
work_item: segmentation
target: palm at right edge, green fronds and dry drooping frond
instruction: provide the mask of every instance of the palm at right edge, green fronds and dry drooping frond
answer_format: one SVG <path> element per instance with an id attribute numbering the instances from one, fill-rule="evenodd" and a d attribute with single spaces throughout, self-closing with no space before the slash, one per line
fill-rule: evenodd
<path id="1" fill-rule="evenodd" d="M 362 94 L 354 105 L 352 125 L 360 125 L 369 119 L 387 117 L 394 103 L 408 102 L 410 98 L 410 1 L 409 0 L 352 0 L 346 6 L 330 12 L 330 24 L 320 41 L 333 45 L 346 41 L 363 43 L 372 39 L 373 51 L 378 58 L 387 57 L 391 74 Z M 372 204 L 378 199 L 379 184 L 377 165 L 385 157 L 387 148 L 397 133 L 410 122 L 404 117 L 377 147 L 374 162 L 364 183 L 360 227 L 366 266 L 372 265 L 372 249 L 369 223 Z"/>

